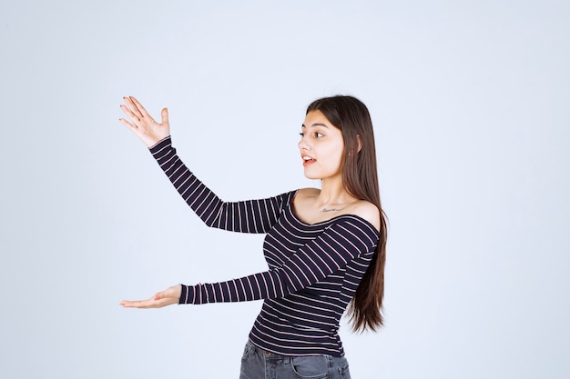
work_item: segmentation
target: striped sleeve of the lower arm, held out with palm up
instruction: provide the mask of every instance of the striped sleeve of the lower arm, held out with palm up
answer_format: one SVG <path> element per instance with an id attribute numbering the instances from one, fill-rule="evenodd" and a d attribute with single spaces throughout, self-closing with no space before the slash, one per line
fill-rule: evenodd
<path id="1" fill-rule="evenodd" d="M 178 304 L 283 297 L 316 284 L 361 254 L 373 252 L 378 238 L 372 224 L 356 216 L 341 217 L 277 268 L 215 284 L 182 284 Z"/>

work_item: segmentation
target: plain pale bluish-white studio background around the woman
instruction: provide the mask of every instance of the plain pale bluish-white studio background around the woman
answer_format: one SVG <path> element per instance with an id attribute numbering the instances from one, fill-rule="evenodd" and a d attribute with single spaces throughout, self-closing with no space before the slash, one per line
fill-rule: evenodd
<path id="1" fill-rule="evenodd" d="M 238 377 L 260 303 L 123 309 L 265 270 L 201 224 L 117 119 L 156 117 L 220 197 L 318 185 L 305 107 L 355 95 L 391 229 L 386 325 L 353 378 L 570 376 L 570 3 L 0 5 L 0 377 Z"/>

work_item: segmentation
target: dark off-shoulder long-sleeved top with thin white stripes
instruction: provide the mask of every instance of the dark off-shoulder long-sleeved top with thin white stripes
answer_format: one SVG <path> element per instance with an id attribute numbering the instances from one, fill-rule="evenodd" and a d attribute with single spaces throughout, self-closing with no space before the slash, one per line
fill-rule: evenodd
<path id="1" fill-rule="evenodd" d="M 223 202 L 180 161 L 170 137 L 150 152 L 205 224 L 267 234 L 263 254 L 268 271 L 227 282 L 182 285 L 179 304 L 263 299 L 249 334 L 252 344 L 284 355 L 344 355 L 339 324 L 378 244 L 374 226 L 353 214 L 304 223 L 293 211 L 296 191 Z"/>

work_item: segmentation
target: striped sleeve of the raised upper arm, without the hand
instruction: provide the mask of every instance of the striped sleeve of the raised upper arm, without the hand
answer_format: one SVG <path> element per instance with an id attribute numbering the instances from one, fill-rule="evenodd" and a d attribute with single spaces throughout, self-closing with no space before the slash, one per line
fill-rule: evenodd
<path id="1" fill-rule="evenodd" d="M 242 233 L 268 233 L 294 192 L 242 202 L 224 202 L 188 170 L 171 137 L 149 148 L 178 194 L 208 226 Z"/>

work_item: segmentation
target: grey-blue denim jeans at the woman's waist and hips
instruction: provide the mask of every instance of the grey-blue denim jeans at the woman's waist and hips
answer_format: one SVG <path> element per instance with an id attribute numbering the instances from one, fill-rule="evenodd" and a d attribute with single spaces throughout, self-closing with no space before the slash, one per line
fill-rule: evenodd
<path id="1" fill-rule="evenodd" d="M 345 357 L 273 354 L 249 341 L 241 357 L 239 379 L 351 379 Z"/>

